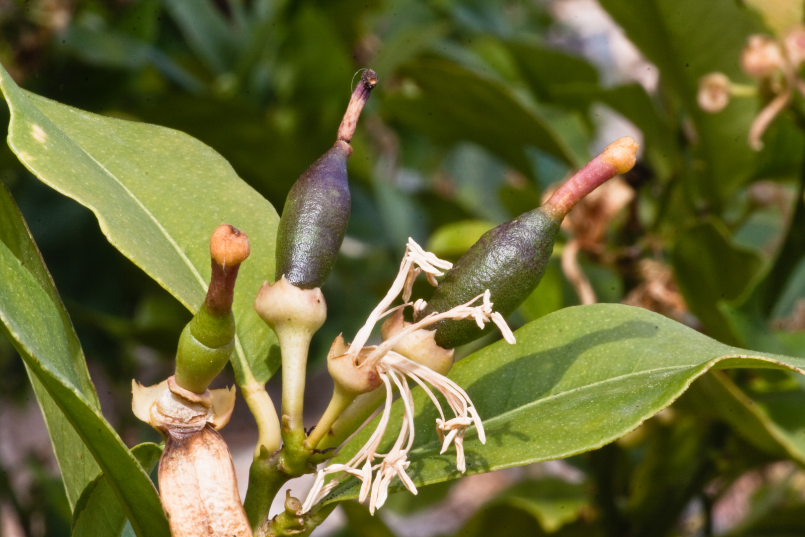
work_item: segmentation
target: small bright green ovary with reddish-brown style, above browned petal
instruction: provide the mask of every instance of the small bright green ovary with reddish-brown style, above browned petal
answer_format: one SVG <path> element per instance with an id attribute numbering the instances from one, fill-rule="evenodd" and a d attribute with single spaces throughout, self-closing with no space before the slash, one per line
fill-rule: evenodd
<path id="1" fill-rule="evenodd" d="M 207 296 L 184 327 L 176 351 L 176 383 L 196 394 L 207 390 L 232 356 L 232 300 L 237 271 L 249 257 L 249 239 L 229 224 L 219 225 L 210 238 L 209 251 L 212 275 Z"/>

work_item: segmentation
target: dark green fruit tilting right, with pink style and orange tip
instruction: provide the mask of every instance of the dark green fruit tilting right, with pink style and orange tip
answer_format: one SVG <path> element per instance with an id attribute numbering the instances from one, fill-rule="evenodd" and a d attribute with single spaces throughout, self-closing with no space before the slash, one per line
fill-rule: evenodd
<path id="1" fill-rule="evenodd" d="M 637 159 L 638 144 L 626 136 L 609 144 L 541 207 L 484 233 L 436 287 L 416 320 L 431 312 L 446 312 L 489 289 L 494 309 L 510 316 L 543 278 L 559 225 L 570 209 L 606 180 L 629 171 Z M 478 328 L 473 319 L 440 320 L 436 343 L 452 349 L 492 329 Z"/>

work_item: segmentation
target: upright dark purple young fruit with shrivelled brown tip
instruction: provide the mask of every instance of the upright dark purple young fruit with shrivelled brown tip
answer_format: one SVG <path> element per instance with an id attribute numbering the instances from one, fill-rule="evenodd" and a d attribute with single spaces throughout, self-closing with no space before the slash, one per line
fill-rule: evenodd
<path id="1" fill-rule="evenodd" d="M 336 144 L 309 167 L 288 192 L 277 229 L 276 279 L 301 289 L 321 287 L 336 262 L 349 222 L 349 140 L 369 93 L 371 69 L 361 76 L 338 130 Z"/>

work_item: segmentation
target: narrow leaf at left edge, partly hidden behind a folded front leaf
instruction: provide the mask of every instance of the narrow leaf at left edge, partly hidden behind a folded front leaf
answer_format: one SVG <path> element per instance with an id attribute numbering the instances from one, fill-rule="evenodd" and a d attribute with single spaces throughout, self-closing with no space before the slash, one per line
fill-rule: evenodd
<path id="1" fill-rule="evenodd" d="M 56 287 L 53 285 L 50 274 L 42 260 L 39 250 L 36 248 L 31 233 L 23 220 L 23 215 L 14 204 L 11 193 L 6 186 L 0 184 L 0 242 L 17 260 L 22 263 L 25 270 L 32 278 L 39 283 L 52 304 L 58 312 L 60 327 L 59 332 L 63 334 L 67 345 L 68 353 L 64 356 L 65 366 L 72 371 L 72 377 L 76 379 L 76 387 L 81 390 L 81 394 L 87 399 L 93 408 L 100 409 L 97 394 L 92 381 L 89 378 L 84 353 L 81 344 L 78 342 L 72 323 L 61 303 Z M 64 481 L 64 489 L 67 492 L 67 499 L 70 509 L 76 506 L 81 492 L 85 489 L 89 481 L 92 481 L 101 471 L 98 468 L 92 454 L 87 450 L 84 442 L 73 430 L 68 418 L 60 410 L 59 406 L 47 393 L 44 386 L 36 378 L 31 368 L 26 363 L 28 378 L 31 379 L 31 386 L 34 387 L 36 400 L 42 409 L 42 415 L 47 424 L 47 432 L 50 435 L 53 453 L 59 463 L 59 469 Z"/>

